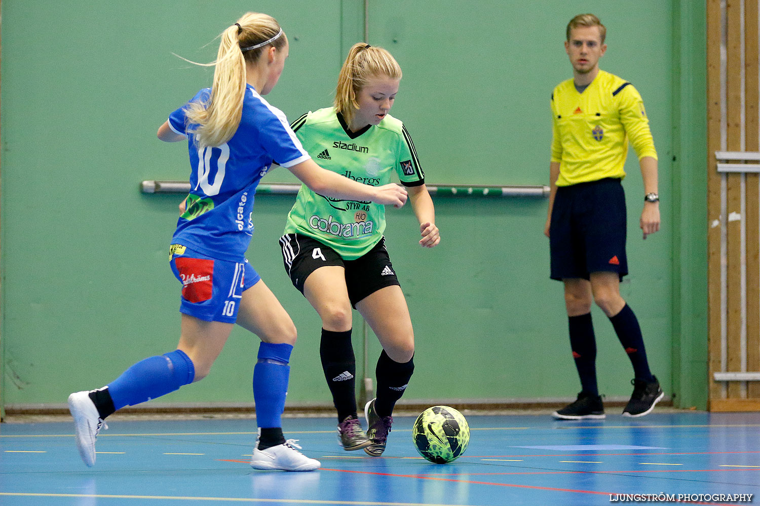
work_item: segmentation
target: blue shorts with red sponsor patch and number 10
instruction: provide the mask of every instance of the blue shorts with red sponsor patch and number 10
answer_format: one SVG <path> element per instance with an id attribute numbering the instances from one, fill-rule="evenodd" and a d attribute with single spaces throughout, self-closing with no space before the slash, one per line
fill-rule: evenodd
<path id="1" fill-rule="evenodd" d="M 182 282 L 179 312 L 206 322 L 235 323 L 242 293 L 261 279 L 248 260 L 214 259 L 181 244 L 169 247 L 169 265 Z"/>

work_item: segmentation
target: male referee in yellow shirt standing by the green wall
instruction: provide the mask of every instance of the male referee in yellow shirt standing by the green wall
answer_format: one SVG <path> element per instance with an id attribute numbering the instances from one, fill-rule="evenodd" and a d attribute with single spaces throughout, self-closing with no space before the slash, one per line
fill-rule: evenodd
<path id="1" fill-rule="evenodd" d="M 549 237 L 551 277 L 565 284 L 570 345 L 581 392 L 555 411 L 559 420 L 604 418 L 597 389 L 591 301 L 604 311 L 634 369 L 631 400 L 623 416 L 650 413 L 663 391 L 652 375 L 638 320 L 620 297 L 628 274 L 625 258 L 625 194 L 621 181 L 628 142 L 644 179 L 644 239 L 660 229 L 657 152 L 644 102 L 631 83 L 601 71 L 606 28 L 594 14 L 579 14 L 567 26 L 565 52 L 573 78 L 552 94 L 551 194 L 544 234 Z"/>

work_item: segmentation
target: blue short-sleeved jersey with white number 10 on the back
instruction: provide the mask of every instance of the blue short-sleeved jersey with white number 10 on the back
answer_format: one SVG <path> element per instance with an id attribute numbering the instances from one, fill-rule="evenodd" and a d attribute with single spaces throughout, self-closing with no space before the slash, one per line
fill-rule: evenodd
<path id="1" fill-rule="evenodd" d="M 206 102 L 205 88 L 191 102 Z M 280 109 L 273 107 L 247 84 L 242 118 L 233 137 L 221 146 L 198 151 L 187 124 L 185 107 L 169 115 L 169 127 L 188 137 L 190 193 L 180 215 L 172 244 L 183 244 L 211 258 L 242 262 L 251 243 L 253 196 L 258 181 L 273 160 L 283 167 L 311 157 L 296 138 Z"/>

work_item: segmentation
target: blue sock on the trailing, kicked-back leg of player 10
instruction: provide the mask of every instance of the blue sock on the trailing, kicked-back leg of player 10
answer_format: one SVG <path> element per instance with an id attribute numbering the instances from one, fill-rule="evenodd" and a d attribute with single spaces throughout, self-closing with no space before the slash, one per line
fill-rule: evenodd
<path id="1" fill-rule="evenodd" d="M 122 372 L 108 384 L 116 410 L 134 406 L 179 390 L 195 379 L 195 366 L 185 352 L 174 350 L 160 357 L 150 357 Z"/>

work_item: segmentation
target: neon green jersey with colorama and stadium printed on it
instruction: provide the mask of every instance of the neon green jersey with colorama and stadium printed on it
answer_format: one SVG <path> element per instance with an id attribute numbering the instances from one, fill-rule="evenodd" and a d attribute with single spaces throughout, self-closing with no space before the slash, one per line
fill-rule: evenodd
<path id="1" fill-rule="evenodd" d="M 329 171 L 375 187 L 396 178 L 407 187 L 425 183 L 412 138 L 391 115 L 352 132 L 335 108 L 324 108 L 302 115 L 291 127 L 312 159 Z M 321 196 L 305 184 L 285 225 L 286 234 L 313 237 L 347 260 L 371 250 L 383 231 L 385 206 Z"/>

